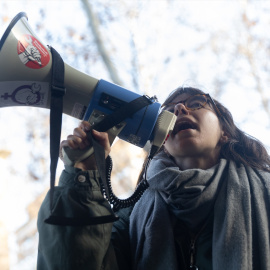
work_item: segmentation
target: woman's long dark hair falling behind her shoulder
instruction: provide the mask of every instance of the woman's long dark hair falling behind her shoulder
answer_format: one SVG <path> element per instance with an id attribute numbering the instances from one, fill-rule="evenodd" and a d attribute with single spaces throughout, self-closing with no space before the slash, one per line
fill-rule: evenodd
<path id="1" fill-rule="evenodd" d="M 179 87 L 167 97 L 162 106 L 166 106 L 178 95 L 185 93 L 189 95 L 205 94 L 202 90 L 197 88 Z M 254 169 L 270 172 L 270 156 L 264 145 L 256 138 L 240 130 L 235 125 L 230 111 L 217 100 L 213 100 L 221 113 L 221 116 L 219 116 L 220 124 L 228 136 L 228 141 L 221 146 L 221 158 L 233 160 L 237 164 L 242 163 Z M 209 104 L 212 106 L 211 103 Z M 160 151 L 163 151 L 163 147 Z M 143 165 L 138 182 L 143 177 L 145 164 L 146 162 Z"/>

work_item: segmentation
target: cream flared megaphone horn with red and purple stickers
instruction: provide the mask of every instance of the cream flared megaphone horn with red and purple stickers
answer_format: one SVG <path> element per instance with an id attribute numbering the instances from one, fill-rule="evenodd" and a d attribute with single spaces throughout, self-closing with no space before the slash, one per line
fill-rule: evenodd
<path id="1" fill-rule="evenodd" d="M 98 83 L 71 66 L 65 65 L 63 112 L 82 119 Z M 34 106 L 50 108 L 52 55 L 19 13 L 0 41 L 0 107 Z"/>

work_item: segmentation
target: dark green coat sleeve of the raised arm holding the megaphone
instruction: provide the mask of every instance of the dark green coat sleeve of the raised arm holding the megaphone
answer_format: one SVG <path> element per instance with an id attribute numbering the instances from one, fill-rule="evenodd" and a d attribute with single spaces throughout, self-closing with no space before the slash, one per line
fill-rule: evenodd
<path id="1" fill-rule="evenodd" d="M 53 212 L 72 218 L 112 214 L 97 178 L 96 171 L 66 167 L 55 187 Z M 75 227 L 47 224 L 44 220 L 50 215 L 49 194 L 38 214 L 37 270 L 117 270 L 112 223 Z"/>

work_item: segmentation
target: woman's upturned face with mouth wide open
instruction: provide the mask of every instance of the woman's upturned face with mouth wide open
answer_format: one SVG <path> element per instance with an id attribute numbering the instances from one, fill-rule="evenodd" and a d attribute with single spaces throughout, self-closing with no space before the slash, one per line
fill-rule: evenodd
<path id="1" fill-rule="evenodd" d="M 190 95 L 181 94 L 172 102 L 186 100 Z M 219 120 L 207 103 L 205 107 L 190 111 L 182 104 L 172 105 L 168 110 L 177 116 L 173 132 L 165 143 L 167 151 L 178 158 L 217 158 L 220 153 L 220 139 L 223 136 Z"/>

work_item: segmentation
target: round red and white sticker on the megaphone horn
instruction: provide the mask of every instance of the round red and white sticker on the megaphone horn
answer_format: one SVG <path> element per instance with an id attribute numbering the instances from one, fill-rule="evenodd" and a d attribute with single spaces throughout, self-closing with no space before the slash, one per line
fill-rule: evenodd
<path id="1" fill-rule="evenodd" d="M 47 49 L 29 34 L 20 37 L 17 51 L 22 63 L 29 68 L 40 69 L 47 66 L 50 61 Z"/>

